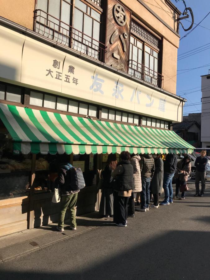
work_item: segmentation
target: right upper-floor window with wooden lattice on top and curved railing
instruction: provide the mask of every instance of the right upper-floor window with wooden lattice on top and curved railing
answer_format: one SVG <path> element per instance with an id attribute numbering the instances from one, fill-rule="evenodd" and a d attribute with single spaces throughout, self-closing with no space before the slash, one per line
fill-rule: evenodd
<path id="1" fill-rule="evenodd" d="M 162 87 L 163 76 L 158 73 L 159 40 L 133 21 L 131 30 L 137 36 L 130 37 L 129 74 Z"/>

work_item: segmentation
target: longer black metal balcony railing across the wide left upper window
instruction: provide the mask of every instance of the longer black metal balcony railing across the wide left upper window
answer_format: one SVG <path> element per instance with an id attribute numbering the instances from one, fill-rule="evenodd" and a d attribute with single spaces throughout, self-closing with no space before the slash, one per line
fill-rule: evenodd
<path id="1" fill-rule="evenodd" d="M 81 54 L 106 63 L 105 44 L 40 9 L 34 11 L 34 31 Z"/>

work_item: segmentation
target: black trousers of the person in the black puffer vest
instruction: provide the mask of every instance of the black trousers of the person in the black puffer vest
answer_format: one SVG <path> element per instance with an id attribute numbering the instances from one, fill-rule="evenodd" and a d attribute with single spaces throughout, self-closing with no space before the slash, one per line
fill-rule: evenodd
<path id="1" fill-rule="evenodd" d="M 126 225 L 128 217 L 128 199 L 129 197 L 119 196 L 118 192 L 114 191 L 114 223 Z"/>

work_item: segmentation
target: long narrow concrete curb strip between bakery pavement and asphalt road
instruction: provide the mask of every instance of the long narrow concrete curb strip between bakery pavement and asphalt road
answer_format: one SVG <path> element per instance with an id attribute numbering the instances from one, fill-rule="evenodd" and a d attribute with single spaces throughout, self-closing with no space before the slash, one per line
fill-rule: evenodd
<path id="1" fill-rule="evenodd" d="M 23 253 L 21 253 L 21 254 L 16 254 L 15 256 L 11 256 L 11 257 L 8 257 L 8 258 L 5 258 L 5 259 L 0 259 L 0 264 L 3 264 L 3 263 L 5 263 L 5 262 L 10 261 L 10 260 L 13 260 L 13 259 L 17 259 L 17 258 L 19 258 L 19 257 L 21 257 L 21 256 L 30 254 L 30 253 L 32 253 L 32 252 L 35 252 L 35 251 L 38 251 L 38 250 L 42 250 L 42 249 L 44 249 L 44 248 L 46 248 L 46 247 L 49 247 L 49 246 L 51 246 L 51 245 L 53 245 L 53 244 L 56 244 L 56 243 L 61 242 L 61 241 L 63 241 L 63 240 L 71 239 L 71 238 L 73 238 L 73 237 L 75 237 L 75 236 L 79 236 L 79 235 L 81 235 L 81 234 L 83 234 L 83 233 L 85 233 L 85 232 L 94 230 L 94 229 L 96 229 L 96 228 L 98 228 L 98 227 L 99 227 L 99 226 L 94 226 L 94 227 L 88 228 L 88 229 L 86 229 L 86 230 L 83 230 L 83 231 L 81 231 L 81 232 L 75 233 L 75 234 L 73 234 L 73 235 L 71 235 L 71 236 L 69 236 L 69 235 L 66 234 L 66 236 L 63 237 L 62 239 L 56 240 L 56 241 L 52 241 L 52 242 L 50 242 L 50 243 L 48 243 L 48 244 L 46 244 L 46 245 L 42 245 L 42 246 L 37 245 L 37 246 L 34 246 L 34 248 L 32 248 L 31 250 L 27 250 L 27 251 L 25 251 L 25 252 L 23 252 Z M 62 233 L 61 233 L 61 234 L 62 234 Z M 49 235 L 51 235 L 51 233 L 48 234 L 48 236 L 49 236 Z M 31 241 L 33 241 L 33 240 L 32 240 L 32 239 L 31 239 L 31 240 L 27 240 L 27 243 L 30 244 Z M 21 244 L 21 243 L 19 243 L 19 244 Z M 15 245 L 16 245 L 16 244 L 15 244 Z M 31 246 L 33 246 L 33 245 L 31 245 Z M 12 246 L 11 246 L 11 247 L 12 247 Z"/>

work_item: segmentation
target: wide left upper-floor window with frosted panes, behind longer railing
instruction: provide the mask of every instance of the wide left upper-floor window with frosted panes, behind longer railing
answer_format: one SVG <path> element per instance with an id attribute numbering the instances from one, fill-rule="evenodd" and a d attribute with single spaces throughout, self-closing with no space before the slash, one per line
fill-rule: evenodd
<path id="1" fill-rule="evenodd" d="M 105 62 L 106 46 L 99 42 L 100 0 L 37 0 L 35 31 L 59 44 Z M 99 7 L 97 7 L 99 6 Z"/>

